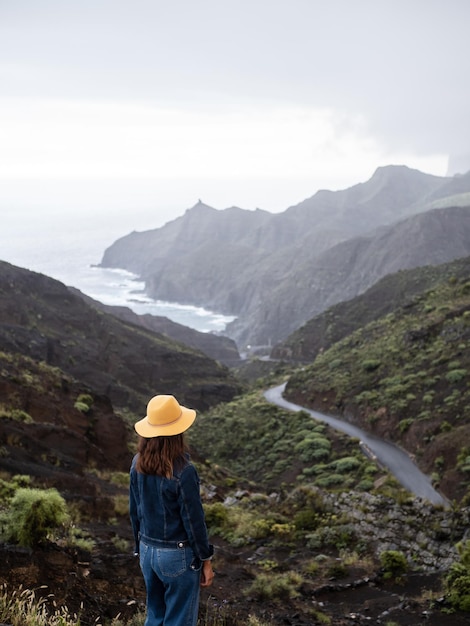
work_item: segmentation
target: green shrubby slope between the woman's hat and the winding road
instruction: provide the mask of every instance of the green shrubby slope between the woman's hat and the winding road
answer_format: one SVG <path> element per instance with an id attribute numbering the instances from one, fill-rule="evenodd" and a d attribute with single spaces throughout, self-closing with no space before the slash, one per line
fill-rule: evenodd
<path id="1" fill-rule="evenodd" d="M 188 436 L 201 456 L 258 484 L 313 481 L 335 489 L 361 484 L 363 489 L 370 481 L 371 464 L 357 442 L 306 411 L 268 403 L 259 392 L 199 416 Z"/>

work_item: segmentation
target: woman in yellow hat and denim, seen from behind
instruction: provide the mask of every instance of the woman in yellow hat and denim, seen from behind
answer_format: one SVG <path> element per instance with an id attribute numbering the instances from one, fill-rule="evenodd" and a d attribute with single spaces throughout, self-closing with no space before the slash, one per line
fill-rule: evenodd
<path id="1" fill-rule="evenodd" d="M 145 626 L 196 626 L 199 587 L 214 578 L 199 477 L 183 435 L 195 418 L 173 396 L 159 395 L 134 426 L 140 437 L 129 510 L 147 589 Z"/>

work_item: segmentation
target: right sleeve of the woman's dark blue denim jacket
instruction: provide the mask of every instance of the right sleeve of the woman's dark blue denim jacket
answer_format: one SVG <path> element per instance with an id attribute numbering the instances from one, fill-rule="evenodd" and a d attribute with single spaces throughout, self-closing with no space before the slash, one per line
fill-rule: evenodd
<path id="1" fill-rule="evenodd" d="M 202 508 L 199 476 L 191 463 L 179 477 L 180 511 L 189 543 L 201 561 L 207 561 L 214 554 L 214 546 L 209 543 L 204 509 Z"/>

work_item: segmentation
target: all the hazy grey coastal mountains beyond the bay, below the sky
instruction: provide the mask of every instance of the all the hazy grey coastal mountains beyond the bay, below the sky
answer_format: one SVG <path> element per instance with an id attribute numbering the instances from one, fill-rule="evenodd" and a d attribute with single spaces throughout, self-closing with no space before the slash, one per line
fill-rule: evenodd
<path id="1" fill-rule="evenodd" d="M 273 345 L 387 274 L 470 255 L 470 173 L 377 169 L 283 213 L 201 201 L 162 228 L 133 232 L 101 265 L 138 274 L 158 299 L 236 315 L 241 349 Z"/>

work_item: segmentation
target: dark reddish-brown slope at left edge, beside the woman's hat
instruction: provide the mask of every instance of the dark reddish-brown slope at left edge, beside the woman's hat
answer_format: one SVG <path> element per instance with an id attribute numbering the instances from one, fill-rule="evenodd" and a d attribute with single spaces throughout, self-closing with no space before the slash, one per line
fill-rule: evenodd
<path id="1" fill-rule="evenodd" d="M 93 394 L 91 407 L 79 410 L 77 400 L 88 392 L 56 368 L 0 353 L 0 465 L 53 478 L 69 492 L 86 491 L 76 479 L 85 467 L 127 471 L 128 429 L 105 396 Z"/>

